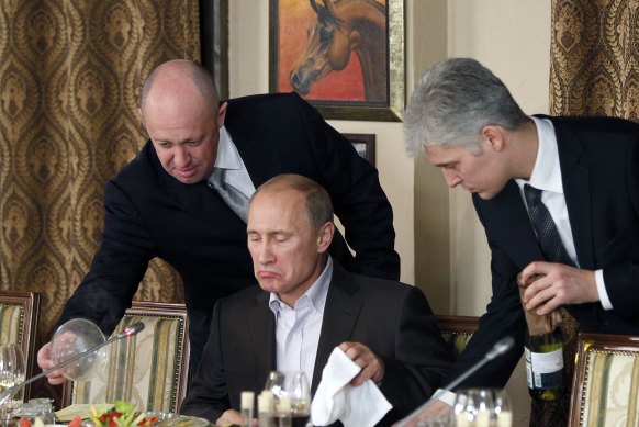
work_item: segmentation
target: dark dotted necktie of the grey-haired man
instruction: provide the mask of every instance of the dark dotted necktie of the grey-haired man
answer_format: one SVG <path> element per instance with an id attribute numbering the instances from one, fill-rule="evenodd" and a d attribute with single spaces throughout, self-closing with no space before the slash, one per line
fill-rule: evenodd
<path id="1" fill-rule="evenodd" d="M 528 204 L 528 214 L 530 223 L 537 233 L 537 241 L 546 259 L 550 262 L 561 262 L 567 266 L 574 266 L 574 262 L 568 256 L 561 237 L 557 231 L 557 225 L 548 212 L 548 207 L 541 202 L 541 190 L 530 184 L 524 184 L 524 195 Z"/>

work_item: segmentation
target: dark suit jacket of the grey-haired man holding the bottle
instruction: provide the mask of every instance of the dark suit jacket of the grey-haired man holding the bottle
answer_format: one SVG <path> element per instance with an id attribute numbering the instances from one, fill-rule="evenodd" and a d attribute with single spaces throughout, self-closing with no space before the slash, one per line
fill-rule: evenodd
<path id="1" fill-rule="evenodd" d="M 545 116 L 541 116 L 545 117 Z M 591 333 L 639 334 L 639 124 L 607 117 L 545 117 L 554 126 L 568 215 L 579 265 L 603 269 L 613 311 L 601 303 L 567 308 Z M 512 335 L 507 357 L 489 363 L 462 385 L 503 386 L 524 348 L 525 319 L 516 274 L 543 260 L 515 181 L 492 200 L 473 195 L 492 254 L 493 297 L 447 380 Z"/>

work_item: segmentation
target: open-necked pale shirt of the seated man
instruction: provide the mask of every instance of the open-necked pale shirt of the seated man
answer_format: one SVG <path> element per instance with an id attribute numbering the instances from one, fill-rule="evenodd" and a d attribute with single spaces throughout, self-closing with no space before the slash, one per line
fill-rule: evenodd
<path id="1" fill-rule="evenodd" d="M 315 356 L 320 345 L 326 295 L 333 278 L 333 260 L 309 290 L 300 296 L 294 307 L 284 304 L 271 292 L 269 307 L 276 316 L 276 355 L 278 371 L 284 374 L 302 371 L 313 383 Z"/>

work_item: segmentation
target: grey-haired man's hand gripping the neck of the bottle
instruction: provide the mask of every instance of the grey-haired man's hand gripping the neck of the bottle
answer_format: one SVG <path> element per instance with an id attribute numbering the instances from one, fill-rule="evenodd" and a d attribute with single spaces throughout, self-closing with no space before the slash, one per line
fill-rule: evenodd
<path id="1" fill-rule="evenodd" d="M 526 310 L 545 315 L 564 304 L 583 304 L 599 301 L 595 273 L 562 263 L 535 261 L 522 271 L 523 283 L 541 274 L 524 292 Z"/>

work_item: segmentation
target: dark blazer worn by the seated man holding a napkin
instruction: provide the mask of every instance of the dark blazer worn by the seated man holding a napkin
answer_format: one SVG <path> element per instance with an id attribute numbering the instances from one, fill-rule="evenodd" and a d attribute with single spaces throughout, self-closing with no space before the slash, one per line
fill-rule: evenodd
<path id="1" fill-rule="evenodd" d="M 394 408 L 380 425 L 390 425 L 433 394 L 452 357 L 418 289 L 349 274 L 337 262 L 329 286 L 312 394 L 334 348 L 344 341 L 362 342 L 384 361 L 380 390 Z M 242 391 L 257 396 L 264 389 L 276 369 L 274 315 L 268 302 L 269 293 L 258 286 L 218 301 L 181 413 L 215 423 L 224 411 L 239 411 Z"/>

